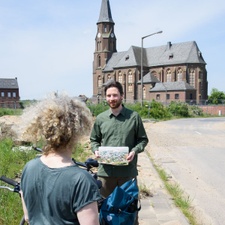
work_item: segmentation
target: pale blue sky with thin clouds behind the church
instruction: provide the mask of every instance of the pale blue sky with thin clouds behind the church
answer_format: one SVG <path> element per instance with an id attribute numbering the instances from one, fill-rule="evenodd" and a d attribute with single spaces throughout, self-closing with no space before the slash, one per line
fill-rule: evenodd
<path id="1" fill-rule="evenodd" d="M 0 78 L 17 77 L 21 100 L 51 92 L 92 97 L 102 0 L 0 0 Z M 110 0 L 117 51 L 196 41 L 208 94 L 225 92 L 224 0 Z"/>

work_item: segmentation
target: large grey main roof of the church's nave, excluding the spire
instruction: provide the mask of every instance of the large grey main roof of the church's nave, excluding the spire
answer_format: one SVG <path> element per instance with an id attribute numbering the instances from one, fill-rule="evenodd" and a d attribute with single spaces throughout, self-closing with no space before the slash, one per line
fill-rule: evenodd
<path id="1" fill-rule="evenodd" d="M 195 41 L 143 48 L 143 66 L 165 66 L 186 63 L 206 64 Z M 104 71 L 141 66 L 141 47 L 131 46 L 128 51 L 113 53 Z"/>

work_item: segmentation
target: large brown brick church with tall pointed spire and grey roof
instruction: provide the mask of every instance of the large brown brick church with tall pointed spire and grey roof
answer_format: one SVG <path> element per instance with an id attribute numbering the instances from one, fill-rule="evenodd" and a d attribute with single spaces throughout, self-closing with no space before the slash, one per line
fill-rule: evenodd
<path id="1" fill-rule="evenodd" d="M 208 96 L 206 62 L 195 41 L 117 52 L 109 0 L 102 0 L 93 61 L 93 97 L 105 98 L 104 84 L 123 85 L 126 102 L 181 101 L 204 104 Z M 142 71 L 142 72 L 141 72 Z"/>

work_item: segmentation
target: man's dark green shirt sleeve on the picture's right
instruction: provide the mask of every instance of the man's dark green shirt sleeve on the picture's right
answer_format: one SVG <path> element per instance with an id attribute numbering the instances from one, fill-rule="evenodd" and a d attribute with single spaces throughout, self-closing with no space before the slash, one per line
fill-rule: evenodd
<path id="1" fill-rule="evenodd" d="M 141 117 L 137 114 L 137 124 L 136 124 L 136 138 L 137 144 L 132 148 L 131 151 L 134 151 L 136 154 L 144 151 L 146 145 L 148 144 L 148 137 L 141 120 Z"/>

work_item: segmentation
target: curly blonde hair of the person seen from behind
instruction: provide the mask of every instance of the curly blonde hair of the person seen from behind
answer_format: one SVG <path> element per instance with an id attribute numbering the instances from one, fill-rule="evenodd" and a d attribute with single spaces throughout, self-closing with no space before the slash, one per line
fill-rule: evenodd
<path id="1" fill-rule="evenodd" d="M 23 141 L 45 140 L 44 153 L 72 145 L 90 131 L 92 116 L 77 98 L 53 94 L 26 108 L 17 134 Z M 71 147 L 71 146 L 70 146 Z"/>

